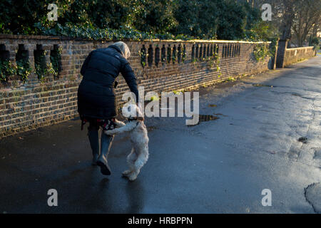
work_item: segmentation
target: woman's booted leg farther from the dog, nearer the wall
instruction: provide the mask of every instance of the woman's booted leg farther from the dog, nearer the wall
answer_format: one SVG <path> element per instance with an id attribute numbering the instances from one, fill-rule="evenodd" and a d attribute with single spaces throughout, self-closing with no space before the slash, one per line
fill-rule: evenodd
<path id="1" fill-rule="evenodd" d="M 99 126 L 95 120 L 89 121 L 88 127 L 88 139 L 91 143 L 91 150 L 93 152 L 93 165 L 97 165 L 97 160 L 99 157 Z"/>

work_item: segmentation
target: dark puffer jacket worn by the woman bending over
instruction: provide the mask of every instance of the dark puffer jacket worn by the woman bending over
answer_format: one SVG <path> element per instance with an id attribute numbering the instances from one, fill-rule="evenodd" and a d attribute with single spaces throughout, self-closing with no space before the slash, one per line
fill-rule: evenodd
<path id="1" fill-rule="evenodd" d="M 117 115 L 113 90 L 118 74 L 125 78 L 128 87 L 138 99 L 136 78 L 126 58 L 117 46 L 100 48 L 89 53 L 78 87 L 78 113 L 90 118 L 108 119 Z"/>

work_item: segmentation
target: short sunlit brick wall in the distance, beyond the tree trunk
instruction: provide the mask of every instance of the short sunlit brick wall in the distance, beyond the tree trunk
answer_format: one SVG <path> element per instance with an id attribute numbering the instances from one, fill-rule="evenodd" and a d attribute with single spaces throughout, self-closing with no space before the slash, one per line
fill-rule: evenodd
<path id="1" fill-rule="evenodd" d="M 284 66 L 288 66 L 297 61 L 302 61 L 305 58 L 311 58 L 315 56 L 315 50 L 313 46 L 303 48 L 286 48 L 284 56 Z"/>

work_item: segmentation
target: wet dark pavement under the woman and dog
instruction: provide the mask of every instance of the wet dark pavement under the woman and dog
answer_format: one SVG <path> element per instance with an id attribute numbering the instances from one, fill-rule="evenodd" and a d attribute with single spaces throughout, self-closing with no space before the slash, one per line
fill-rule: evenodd
<path id="1" fill-rule="evenodd" d="M 146 118 L 150 157 L 134 182 L 121 177 L 128 135 L 113 142 L 108 177 L 91 165 L 80 120 L 3 138 L 0 212 L 320 213 L 320 92 L 320 56 L 200 88 L 200 124 Z"/>

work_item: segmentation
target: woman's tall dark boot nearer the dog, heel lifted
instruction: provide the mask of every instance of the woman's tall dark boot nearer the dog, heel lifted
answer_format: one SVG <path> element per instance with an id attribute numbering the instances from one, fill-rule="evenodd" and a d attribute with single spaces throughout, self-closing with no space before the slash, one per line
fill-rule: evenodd
<path id="1" fill-rule="evenodd" d="M 111 169 L 108 166 L 108 152 L 111 149 L 111 143 L 113 136 L 101 134 L 101 155 L 98 157 L 97 165 L 101 167 L 101 173 L 103 175 L 111 175 Z"/>

